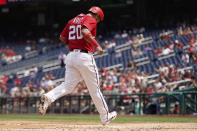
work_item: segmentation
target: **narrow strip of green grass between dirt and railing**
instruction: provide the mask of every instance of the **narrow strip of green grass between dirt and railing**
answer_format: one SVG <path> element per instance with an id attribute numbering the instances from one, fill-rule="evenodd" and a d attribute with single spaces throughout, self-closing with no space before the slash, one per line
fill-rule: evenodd
<path id="1" fill-rule="evenodd" d="M 22 121 L 61 121 L 61 122 L 100 122 L 98 115 L 20 115 L 0 114 L 0 120 Z M 113 123 L 141 123 L 141 122 L 174 122 L 174 123 L 197 123 L 197 117 L 192 116 L 118 116 Z"/>

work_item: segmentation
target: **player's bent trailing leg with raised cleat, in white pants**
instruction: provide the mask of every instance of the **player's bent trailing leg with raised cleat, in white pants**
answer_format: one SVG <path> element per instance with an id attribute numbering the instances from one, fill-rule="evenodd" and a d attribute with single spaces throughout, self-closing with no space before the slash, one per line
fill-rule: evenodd
<path id="1" fill-rule="evenodd" d="M 48 93 L 42 95 L 42 105 L 39 111 L 42 115 L 46 113 L 48 106 L 58 98 L 72 93 L 76 85 L 82 80 L 82 77 L 77 69 L 71 65 L 66 65 L 65 80 L 59 86 L 52 89 Z"/>

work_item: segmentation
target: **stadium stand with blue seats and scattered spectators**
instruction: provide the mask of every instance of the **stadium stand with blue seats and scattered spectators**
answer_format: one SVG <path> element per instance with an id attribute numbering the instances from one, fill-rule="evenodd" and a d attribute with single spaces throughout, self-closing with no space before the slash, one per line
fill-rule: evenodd
<path id="1" fill-rule="evenodd" d="M 191 26 L 141 34 L 124 31 L 103 38 L 100 42 L 104 53 L 94 57 L 102 74 L 104 93 L 166 92 L 196 87 L 196 34 L 197 27 Z M 68 49 L 58 41 L 49 41 L 39 39 L 39 48 L 34 41 L 32 46 L 1 44 L 1 95 L 41 95 L 63 81 L 65 69 L 58 56 L 60 52 L 67 54 Z M 20 59 L 7 60 L 13 56 Z M 83 82 L 78 87 L 74 93 L 88 92 Z"/>

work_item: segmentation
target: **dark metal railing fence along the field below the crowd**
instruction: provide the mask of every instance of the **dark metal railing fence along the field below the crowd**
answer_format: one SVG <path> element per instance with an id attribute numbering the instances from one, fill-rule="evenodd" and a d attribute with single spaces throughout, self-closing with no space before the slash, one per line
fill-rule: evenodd
<path id="1" fill-rule="evenodd" d="M 166 93 L 105 95 L 109 109 L 123 114 L 192 114 L 197 112 L 197 90 Z M 38 113 L 40 97 L 0 97 L 0 113 Z M 47 113 L 96 113 L 89 95 L 68 95 L 56 100 Z"/>

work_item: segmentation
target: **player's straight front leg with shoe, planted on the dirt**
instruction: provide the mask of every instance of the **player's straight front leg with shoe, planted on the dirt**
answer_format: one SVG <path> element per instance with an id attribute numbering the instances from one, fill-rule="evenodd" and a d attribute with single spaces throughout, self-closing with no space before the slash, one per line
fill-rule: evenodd
<path id="1" fill-rule="evenodd" d="M 83 62 L 81 62 L 81 64 L 82 63 Z M 108 106 L 100 91 L 98 70 L 93 56 L 87 58 L 87 61 L 80 66 L 79 70 L 88 87 L 90 96 L 100 114 L 102 123 L 108 124 L 111 120 L 116 118 L 117 113 L 109 113 Z"/>

